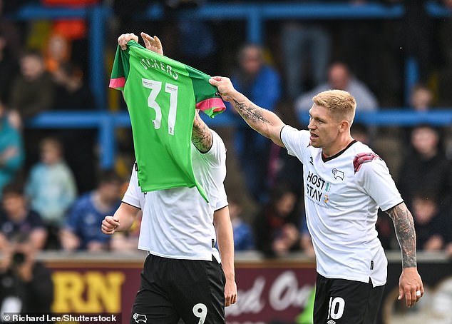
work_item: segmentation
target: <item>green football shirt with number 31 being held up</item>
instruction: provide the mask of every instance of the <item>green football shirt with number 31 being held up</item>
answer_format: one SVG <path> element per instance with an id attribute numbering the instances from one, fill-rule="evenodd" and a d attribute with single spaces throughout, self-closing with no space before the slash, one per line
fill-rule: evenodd
<path id="1" fill-rule="evenodd" d="M 190 153 L 195 108 L 213 117 L 225 110 L 210 76 L 135 41 L 116 50 L 110 87 L 122 90 L 132 123 L 141 190 L 197 187 Z"/>

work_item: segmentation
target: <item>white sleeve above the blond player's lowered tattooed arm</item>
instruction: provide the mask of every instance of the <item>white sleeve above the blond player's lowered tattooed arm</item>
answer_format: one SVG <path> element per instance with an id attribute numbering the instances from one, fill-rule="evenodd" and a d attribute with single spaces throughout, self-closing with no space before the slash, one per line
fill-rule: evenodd
<path id="1" fill-rule="evenodd" d="M 404 201 L 386 163 L 381 158 L 377 157 L 362 163 L 356 170 L 356 177 L 382 211 L 387 211 Z"/>

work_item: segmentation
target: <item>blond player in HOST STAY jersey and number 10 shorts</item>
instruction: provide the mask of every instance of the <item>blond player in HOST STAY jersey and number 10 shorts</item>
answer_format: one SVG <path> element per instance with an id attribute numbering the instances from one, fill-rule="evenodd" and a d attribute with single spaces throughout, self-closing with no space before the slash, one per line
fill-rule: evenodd
<path id="1" fill-rule="evenodd" d="M 307 226 L 317 257 L 314 323 L 376 323 L 387 271 L 375 229 L 379 208 L 394 221 L 401 247 L 399 299 L 413 306 L 423 295 L 413 217 L 386 163 L 350 135 L 354 97 L 340 90 L 318 93 L 308 130 L 299 131 L 236 91 L 230 79 L 215 76 L 210 84 L 252 128 L 303 163 Z"/>

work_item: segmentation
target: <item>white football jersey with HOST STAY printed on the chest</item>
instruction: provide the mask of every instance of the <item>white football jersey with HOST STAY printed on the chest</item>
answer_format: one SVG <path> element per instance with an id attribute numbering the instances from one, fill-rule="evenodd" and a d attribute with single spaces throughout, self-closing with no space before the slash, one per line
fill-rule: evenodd
<path id="1" fill-rule="evenodd" d="M 329 158 L 309 145 L 309 131 L 284 126 L 281 140 L 303 163 L 307 226 L 317 272 L 327 278 L 386 283 L 387 260 L 375 228 L 377 212 L 403 200 L 389 170 L 369 146 L 353 141 Z"/>

